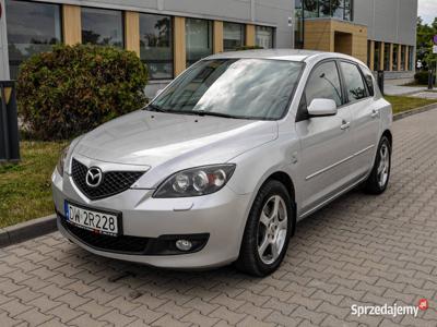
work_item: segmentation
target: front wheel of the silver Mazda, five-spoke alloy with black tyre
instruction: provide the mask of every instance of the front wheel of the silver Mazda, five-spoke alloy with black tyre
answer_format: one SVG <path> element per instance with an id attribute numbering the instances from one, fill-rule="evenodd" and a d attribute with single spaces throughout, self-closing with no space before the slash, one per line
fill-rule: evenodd
<path id="1" fill-rule="evenodd" d="M 275 207 L 277 210 L 274 210 Z M 258 277 L 276 270 L 284 259 L 295 223 L 294 204 L 286 187 L 276 180 L 267 181 L 250 209 L 239 257 L 235 263 L 237 269 Z M 265 242 L 269 243 L 267 247 Z"/>

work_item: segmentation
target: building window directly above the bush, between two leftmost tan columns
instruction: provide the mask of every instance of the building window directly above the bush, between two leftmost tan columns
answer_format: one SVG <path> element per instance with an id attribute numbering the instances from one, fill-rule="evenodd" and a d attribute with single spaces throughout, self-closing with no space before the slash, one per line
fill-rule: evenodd
<path id="1" fill-rule="evenodd" d="M 125 46 L 122 12 L 82 8 L 82 43 L 122 48 Z"/>

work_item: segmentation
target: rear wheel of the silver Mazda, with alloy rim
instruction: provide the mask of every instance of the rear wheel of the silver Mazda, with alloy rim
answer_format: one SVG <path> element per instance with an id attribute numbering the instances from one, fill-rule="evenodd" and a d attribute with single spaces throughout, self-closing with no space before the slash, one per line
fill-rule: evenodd
<path id="1" fill-rule="evenodd" d="M 379 141 L 378 152 L 376 153 L 375 164 L 370 175 L 364 183 L 364 191 L 368 194 L 382 194 L 389 183 L 390 171 L 391 144 L 387 136 L 382 136 L 381 141 Z"/>

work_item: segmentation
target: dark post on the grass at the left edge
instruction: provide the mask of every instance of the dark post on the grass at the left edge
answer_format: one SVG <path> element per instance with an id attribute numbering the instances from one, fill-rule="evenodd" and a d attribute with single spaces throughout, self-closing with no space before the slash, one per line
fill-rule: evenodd
<path id="1" fill-rule="evenodd" d="M 0 164 L 20 161 L 15 82 L 0 81 Z"/>

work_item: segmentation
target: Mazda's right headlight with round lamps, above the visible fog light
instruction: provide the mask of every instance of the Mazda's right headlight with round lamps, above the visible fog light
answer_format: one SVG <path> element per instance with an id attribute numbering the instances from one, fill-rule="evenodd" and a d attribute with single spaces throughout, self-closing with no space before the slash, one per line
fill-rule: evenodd
<path id="1" fill-rule="evenodd" d="M 234 173 L 235 165 L 214 165 L 179 171 L 166 179 L 153 197 L 188 197 L 217 192 Z"/>

